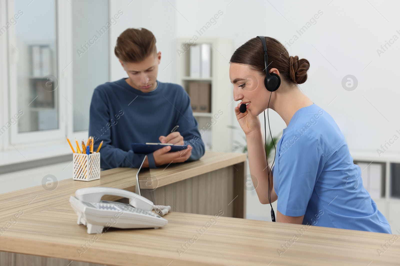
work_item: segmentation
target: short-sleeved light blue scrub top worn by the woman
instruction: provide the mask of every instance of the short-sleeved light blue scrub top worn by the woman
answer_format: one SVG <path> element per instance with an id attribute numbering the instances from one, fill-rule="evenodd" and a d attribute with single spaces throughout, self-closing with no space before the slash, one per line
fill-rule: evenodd
<path id="1" fill-rule="evenodd" d="M 283 215 L 304 215 L 303 225 L 392 233 L 338 125 L 316 104 L 297 110 L 283 130 L 272 173 Z"/>

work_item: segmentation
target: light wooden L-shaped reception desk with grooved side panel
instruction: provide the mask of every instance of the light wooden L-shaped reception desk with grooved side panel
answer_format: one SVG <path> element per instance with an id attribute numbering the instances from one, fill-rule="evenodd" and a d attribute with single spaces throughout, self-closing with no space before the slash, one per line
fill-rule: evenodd
<path id="1" fill-rule="evenodd" d="M 174 166 L 174 171 L 167 167 L 164 172 L 157 169 L 160 172 L 152 174 L 159 179 L 159 187 L 166 187 L 202 175 L 207 178 L 209 173 L 226 167 L 242 171 L 245 160 L 241 154 L 207 153 L 199 161 Z M 165 172 L 167 169 L 170 172 Z M 160 229 L 109 228 L 103 234 L 87 234 L 84 225 L 76 224 L 77 216 L 68 201 L 70 195 L 88 186 L 134 191 L 132 173 L 136 173 L 134 169 L 113 169 L 102 173 L 100 180 L 60 181 L 53 191 L 38 186 L 0 194 L 0 265 L 398 265 L 400 240 L 394 240 L 394 235 L 226 217 L 235 213 L 231 206 L 239 196 L 231 202 L 221 200 L 216 213 L 168 213 L 164 216 L 168 224 Z M 231 178 L 240 179 L 235 176 Z M 196 182 L 191 185 L 195 189 Z M 230 188 L 234 192 L 238 187 L 244 190 L 243 176 L 239 183 Z M 196 197 L 203 196 L 191 198 Z M 172 198 L 168 200 L 172 202 Z M 237 202 L 239 206 L 242 199 Z M 188 202 L 186 210 L 193 210 L 195 205 Z M 236 211 L 238 216 L 240 212 Z M 294 234 L 298 239 L 293 240 Z M 379 256 L 377 249 L 382 249 L 381 245 L 387 248 Z"/>

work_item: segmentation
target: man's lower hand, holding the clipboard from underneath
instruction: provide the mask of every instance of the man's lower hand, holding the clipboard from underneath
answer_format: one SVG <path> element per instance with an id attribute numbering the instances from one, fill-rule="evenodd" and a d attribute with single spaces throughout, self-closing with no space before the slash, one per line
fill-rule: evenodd
<path id="1" fill-rule="evenodd" d="M 172 132 L 171 134 L 174 133 L 179 134 L 179 132 Z M 168 136 L 170 136 L 171 134 L 169 134 Z M 166 146 L 153 152 L 154 162 L 156 163 L 156 166 L 170 163 L 182 163 L 188 160 L 190 155 L 192 154 L 192 146 L 190 145 L 188 145 L 187 149 L 180 150 L 178 152 L 169 152 L 170 150 L 171 146 Z"/>

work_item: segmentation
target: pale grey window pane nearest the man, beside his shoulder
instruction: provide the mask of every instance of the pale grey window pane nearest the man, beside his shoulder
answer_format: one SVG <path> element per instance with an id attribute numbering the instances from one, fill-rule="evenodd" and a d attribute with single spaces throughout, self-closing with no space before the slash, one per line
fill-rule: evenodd
<path id="1" fill-rule="evenodd" d="M 74 0 L 72 4 L 73 121 L 74 131 L 81 131 L 89 128 L 88 102 L 92 99 L 94 89 L 109 81 L 109 57 L 106 53 L 110 47 L 109 32 L 103 30 L 100 35 L 99 31 L 107 22 L 118 24 L 118 20 L 110 22 L 114 13 L 109 14 L 107 0 Z M 94 35 L 98 37 L 96 41 L 93 40 Z M 92 45 L 89 47 L 86 42 Z M 81 45 L 86 45 L 86 51 Z"/>

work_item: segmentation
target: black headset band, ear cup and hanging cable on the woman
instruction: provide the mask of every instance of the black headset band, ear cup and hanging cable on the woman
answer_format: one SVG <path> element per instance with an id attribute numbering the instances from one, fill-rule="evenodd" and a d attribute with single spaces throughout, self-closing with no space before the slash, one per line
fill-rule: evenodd
<path id="1" fill-rule="evenodd" d="M 264 63 L 265 63 L 265 79 L 264 79 L 264 85 L 266 87 L 266 89 L 268 91 L 272 92 L 276 91 L 279 86 L 280 86 L 280 77 L 278 75 L 276 75 L 275 73 L 268 73 L 268 55 L 267 55 L 267 44 L 265 42 L 265 37 L 264 36 L 257 36 L 261 39 L 262 42 L 262 46 L 264 47 Z M 268 115 L 268 110 L 270 107 L 270 100 L 271 100 L 271 95 L 270 95 L 270 99 L 268 100 L 268 108 L 267 108 L 267 115 Z M 276 154 L 276 147 L 275 147 L 275 143 L 274 143 L 274 139 L 272 138 L 272 134 L 271 134 L 271 128 L 270 128 L 270 117 L 268 115 L 268 128 L 270 129 L 270 135 L 271 135 L 271 140 L 272 143 L 274 144 L 274 148 L 275 148 L 275 154 Z M 267 130 L 266 130 L 266 123 L 265 123 L 265 110 L 264 110 L 264 130 L 265 130 L 265 145 L 267 144 Z M 268 167 L 268 156 L 267 154 L 265 154 L 266 159 L 267 159 L 267 167 Z M 275 156 L 274 156 L 274 162 L 275 162 Z M 274 162 L 272 162 L 272 165 L 274 165 Z M 272 204 L 271 204 L 271 195 L 270 195 L 270 173 L 272 171 L 272 166 L 271 166 L 271 170 L 268 171 L 268 200 L 270 201 L 270 205 L 271 205 L 271 220 L 272 222 L 275 222 L 275 212 L 274 212 L 274 208 L 272 208 Z"/>

